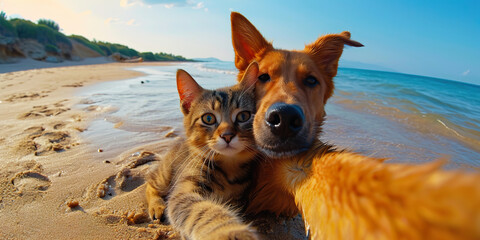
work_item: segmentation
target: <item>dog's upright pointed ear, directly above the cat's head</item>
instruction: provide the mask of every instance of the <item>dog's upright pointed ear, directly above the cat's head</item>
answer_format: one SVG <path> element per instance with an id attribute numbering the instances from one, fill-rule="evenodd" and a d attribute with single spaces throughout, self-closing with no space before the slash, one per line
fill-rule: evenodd
<path id="1" fill-rule="evenodd" d="M 230 20 L 235 66 L 238 70 L 243 71 L 252 60 L 262 56 L 273 47 L 242 14 L 232 12 Z"/>

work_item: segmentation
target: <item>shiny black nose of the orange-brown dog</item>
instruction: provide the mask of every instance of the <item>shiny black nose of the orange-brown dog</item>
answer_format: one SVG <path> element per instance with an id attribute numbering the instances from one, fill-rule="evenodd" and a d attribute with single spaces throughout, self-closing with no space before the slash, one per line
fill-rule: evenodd
<path id="1" fill-rule="evenodd" d="M 273 134 L 287 138 L 295 136 L 302 129 L 305 115 L 297 105 L 282 102 L 274 103 L 265 113 L 265 124 Z"/>

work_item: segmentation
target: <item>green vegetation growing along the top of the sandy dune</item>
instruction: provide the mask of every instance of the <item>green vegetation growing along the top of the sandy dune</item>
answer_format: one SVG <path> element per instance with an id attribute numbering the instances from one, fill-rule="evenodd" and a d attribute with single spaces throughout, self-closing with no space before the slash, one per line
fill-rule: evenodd
<path id="1" fill-rule="evenodd" d="M 102 56 L 119 53 L 126 58 L 141 57 L 145 61 L 191 61 L 182 56 L 169 53 L 138 52 L 118 43 L 90 41 L 83 36 L 75 34 L 65 36 L 60 32 L 60 26 L 52 20 L 40 19 L 37 23 L 19 18 L 8 20 L 3 11 L 0 12 L 0 38 L 2 37 L 35 40 L 44 46 L 47 53 L 65 58 L 71 57 L 70 54 L 73 49 L 72 40 L 75 40 Z"/>

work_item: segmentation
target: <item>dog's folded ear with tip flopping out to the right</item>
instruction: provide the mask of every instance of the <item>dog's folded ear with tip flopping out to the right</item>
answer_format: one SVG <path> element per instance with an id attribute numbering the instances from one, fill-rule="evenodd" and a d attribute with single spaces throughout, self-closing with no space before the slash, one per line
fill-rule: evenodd
<path id="1" fill-rule="evenodd" d="M 337 75 L 338 60 L 344 45 L 363 47 L 363 44 L 350 40 L 350 32 L 345 31 L 321 36 L 314 43 L 306 45 L 304 51 L 313 58 L 321 70 L 333 78 Z"/>

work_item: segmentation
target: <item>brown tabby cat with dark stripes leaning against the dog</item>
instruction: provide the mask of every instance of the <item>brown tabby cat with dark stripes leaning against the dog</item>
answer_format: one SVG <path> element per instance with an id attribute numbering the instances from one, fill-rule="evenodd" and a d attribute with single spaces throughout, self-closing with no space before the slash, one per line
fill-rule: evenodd
<path id="1" fill-rule="evenodd" d="M 186 239 L 258 239 L 238 213 L 247 204 L 256 165 L 257 74 L 253 62 L 237 85 L 205 90 L 177 71 L 186 138 L 149 174 L 146 198 L 150 217 L 160 219 L 166 211 Z"/>

